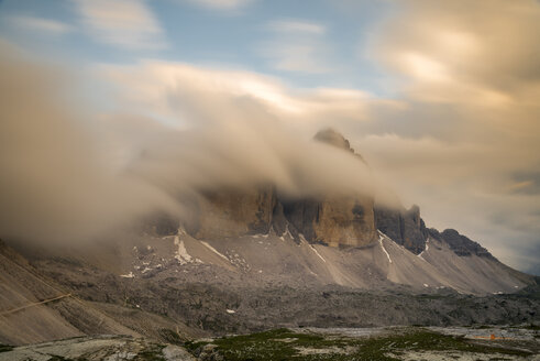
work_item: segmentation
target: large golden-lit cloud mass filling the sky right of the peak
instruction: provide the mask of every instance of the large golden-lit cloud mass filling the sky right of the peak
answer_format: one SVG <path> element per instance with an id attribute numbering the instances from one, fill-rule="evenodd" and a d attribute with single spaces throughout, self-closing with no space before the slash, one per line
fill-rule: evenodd
<path id="1" fill-rule="evenodd" d="M 521 270 L 540 256 L 539 32 L 537 1 L 405 1 L 371 40 L 401 107 L 349 125 L 428 225 Z"/>

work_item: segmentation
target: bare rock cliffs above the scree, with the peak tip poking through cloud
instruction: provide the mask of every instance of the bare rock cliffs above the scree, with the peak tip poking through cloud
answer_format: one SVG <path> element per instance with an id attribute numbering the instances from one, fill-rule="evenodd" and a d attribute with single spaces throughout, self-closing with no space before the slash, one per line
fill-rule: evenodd
<path id="1" fill-rule="evenodd" d="M 332 129 L 318 132 L 318 142 L 335 146 L 357 156 L 350 142 Z M 375 203 L 374 196 L 321 194 L 318 197 L 285 196 L 274 185 L 244 188 L 201 190 L 192 200 L 190 219 L 183 225 L 175 218 L 157 215 L 146 230 L 159 236 L 176 234 L 179 227 L 201 240 L 239 238 L 246 234 L 290 234 L 301 243 L 330 247 L 364 247 L 383 232 L 414 254 L 427 249 L 431 238 L 448 244 L 459 256 L 492 256 L 478 243 L 455 230 L 439 232 L 428 229 L 420 208 L 387 207 Z"/>

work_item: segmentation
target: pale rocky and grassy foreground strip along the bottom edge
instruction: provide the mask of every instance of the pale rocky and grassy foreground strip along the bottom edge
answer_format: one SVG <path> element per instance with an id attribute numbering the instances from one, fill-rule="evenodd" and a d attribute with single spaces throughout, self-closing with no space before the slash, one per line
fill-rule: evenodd
<path id="1" fill-rule="evenodd" d="M 79 337 L 18 348 L 0 361 L 540 360 L 538 328 L 275 329 L 180 346 L 125 336 Z"/>

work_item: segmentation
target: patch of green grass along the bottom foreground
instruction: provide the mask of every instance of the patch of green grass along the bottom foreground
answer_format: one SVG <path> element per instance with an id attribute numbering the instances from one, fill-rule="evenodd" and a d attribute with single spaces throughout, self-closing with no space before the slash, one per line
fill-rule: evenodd
<path id="1" fill-rule="evenodd" d="M 279 360 L 398 360 L 404 351 L 461 351 L 529 355 L 530 353 L 472 343 L 463 337 L 444 336 L 422 328 L 398 329 L 392 335 L 348 338 L 316 333 L 297 333 L 276 329 L 244 336 L 216 339 L 212 342 L 187 342 L 194 354 L 217 352 L 225 361 Z M 206 348 L 205 348 L 206 347 Z M 211 350 L 213 351 L 206 351 Z"/>

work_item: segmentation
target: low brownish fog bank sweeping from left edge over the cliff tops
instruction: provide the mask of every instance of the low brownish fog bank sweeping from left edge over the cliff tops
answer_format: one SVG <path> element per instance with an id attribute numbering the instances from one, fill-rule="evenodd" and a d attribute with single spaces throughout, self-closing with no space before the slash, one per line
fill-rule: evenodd
<path id="1" fill-rule="evenodd" d="M 74 95 L 76 77 L 1 46 L 1 237 L 88 241 L 157 211 L 181 219 L 183 199 L 223 187 L 373 193 L 352 153 L 298 135 L 254 99 L 177 92 L 176 124 L 103 114 Z"/>

